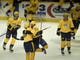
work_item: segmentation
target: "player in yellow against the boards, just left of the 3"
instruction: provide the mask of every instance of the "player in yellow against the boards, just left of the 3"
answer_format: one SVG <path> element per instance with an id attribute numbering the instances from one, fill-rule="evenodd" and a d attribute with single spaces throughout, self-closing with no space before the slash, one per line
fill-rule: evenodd
<path id="1" fill-rule="evenodd" d="M 24 16 L 34 16 L 36 11 L 38 10 L 39 1 L 38 0 L 30 0 L 29 6 L 25 8 Z"/>

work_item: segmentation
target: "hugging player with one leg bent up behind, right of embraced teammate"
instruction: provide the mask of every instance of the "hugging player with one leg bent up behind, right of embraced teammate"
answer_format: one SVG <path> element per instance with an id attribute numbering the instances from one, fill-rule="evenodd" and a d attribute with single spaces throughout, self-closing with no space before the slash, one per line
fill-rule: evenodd
<path id="1" fill-rule="evenodd" d="M 33 38 L 33 42 L 34 42 L 34 47 L 35 47 L 35 51 L 36 52 L 44 52 L 46 54 L 46 50 L 48 48 L 48 44 L 46 43 L 46 41 L 42 38 L 42 30 L 39 31 L 39 28 L 36 24 L 34 24 L 34 21 L 31 22 L 31 25 L 33 26 L 33 32 L 34 32 L 34 36 L 38 36 L 41 35 L 39 37 Z M 42 48 L 39 48 L 39 45 L 42 46 Z"/>

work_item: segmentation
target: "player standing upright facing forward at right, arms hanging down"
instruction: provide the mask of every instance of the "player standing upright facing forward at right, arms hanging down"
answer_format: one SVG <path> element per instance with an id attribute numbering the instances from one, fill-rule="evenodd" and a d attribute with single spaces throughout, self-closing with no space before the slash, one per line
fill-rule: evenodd
<path id="1" fill-rule="evenodd" d="M 63 14 L 63 20 L 59 22 L 57 35 L 61 35 L 61 54 L 64 55 L 64 48 L 67 46 L 68 53 L 71 54 L 71 35 L 74 35 L 74 25 L 68 14 Z"/>

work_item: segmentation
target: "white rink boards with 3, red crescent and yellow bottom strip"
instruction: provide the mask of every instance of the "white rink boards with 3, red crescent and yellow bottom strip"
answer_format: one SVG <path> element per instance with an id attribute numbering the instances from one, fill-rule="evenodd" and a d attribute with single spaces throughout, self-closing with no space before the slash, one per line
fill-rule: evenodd
<path id="1" fill-rule="evenodd" d="M 6 2 L 2 2 L 2 6 L 4 6 Z M 22 18 L 22 20 L 25 20 L 24 18 L 24 9 L 29 5 L 29 2 L 22 2 L 19 4 L 19 16 Z M 36 17 L 34 17 L 37 21 L 45 21 L 45 22 L 58 22 L 62 19 L 63 13 L 66 11 L 66 9 L 69 7 L 69 4 L 65 3 L 63 7 L 63 11 L 57 11 L 58 3 L 54 2 L 41 2 L 39 4 L 38 11 L 36 12 Z M 8 17 L 6 16 L 6 11 L 11 7 L 12 5 L 2 8 L 0 10 L 0 20 L 7 20 Z M 75 4 L 76 6 L 76 4 Z M 12 16 L 12 13 L 10 13 L 10 16 Z"/>

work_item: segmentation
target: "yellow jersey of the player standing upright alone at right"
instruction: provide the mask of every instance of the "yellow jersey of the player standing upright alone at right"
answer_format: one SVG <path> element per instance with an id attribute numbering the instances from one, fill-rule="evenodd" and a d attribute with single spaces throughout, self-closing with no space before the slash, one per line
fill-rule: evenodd
<path id="1" fill-rule="evenodd" d="M 71 19 L 68 19 L 67 21 L 61 20 L 59 22 L 58 28 L 61 29 L 61 32 L 67 33 L 71 32 L 71 28 L 74 28 L 74 25 Z"/>

